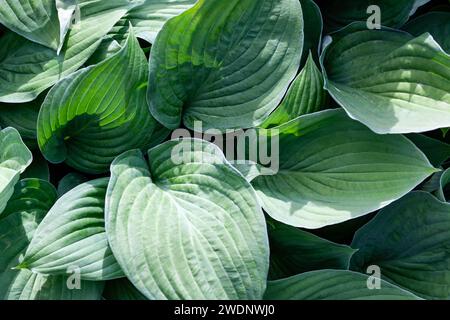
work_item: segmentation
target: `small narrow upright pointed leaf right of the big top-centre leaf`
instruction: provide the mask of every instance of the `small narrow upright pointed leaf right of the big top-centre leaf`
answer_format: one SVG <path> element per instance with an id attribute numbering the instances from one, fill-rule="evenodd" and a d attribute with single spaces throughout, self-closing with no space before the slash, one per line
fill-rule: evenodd
<path id="1" fill-rule="evenodd" d="M 274 127 L 301 115 L 324 109 L 326 92 L 323 85 L 322 73 L 317 68 L 310 52 L 306 65 L 292 82 L 281 105 L 264 121 L 261 127 Z"/>

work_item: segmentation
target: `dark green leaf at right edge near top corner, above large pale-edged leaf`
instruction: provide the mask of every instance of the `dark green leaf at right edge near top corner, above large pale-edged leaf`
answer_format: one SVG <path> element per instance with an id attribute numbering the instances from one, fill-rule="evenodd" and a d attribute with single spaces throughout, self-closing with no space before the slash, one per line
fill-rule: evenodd
<path id="1" fill-rule="evenodd" d="M 408 22 L 403 30 L 414 36 L 430 33 L 447 53 L 450 53 L 450 12 L 428 12 Z"/>

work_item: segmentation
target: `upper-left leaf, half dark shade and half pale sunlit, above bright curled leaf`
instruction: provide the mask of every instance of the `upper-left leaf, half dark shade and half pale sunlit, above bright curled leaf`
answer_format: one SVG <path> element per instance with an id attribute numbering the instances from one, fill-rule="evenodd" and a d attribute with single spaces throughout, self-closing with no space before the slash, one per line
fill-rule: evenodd
<path id="1" fill-rule="evenodd" d="M 99 2 L 85 4 L 81 8 L 80 21 L 68 32 L 59 55 L 53 49 L 12 32 L 4 35 L 0 47 L 0 102 L 31 101 L 80 68 L 97 49 L 103 36 L 127 12 L 124 1 L 100 2 L 100 5 L 109 2 L 111 8 L 99 12 Z"/>

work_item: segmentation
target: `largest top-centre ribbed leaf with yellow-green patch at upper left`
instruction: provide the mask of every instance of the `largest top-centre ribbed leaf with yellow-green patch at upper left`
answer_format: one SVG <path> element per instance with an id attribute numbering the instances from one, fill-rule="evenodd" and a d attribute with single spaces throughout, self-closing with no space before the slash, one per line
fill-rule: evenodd
<path id="1" fill-rule="evenodd" d="M 148 100 L 168 128 L 261 124 L 299 68 L 298 0 L 200 0 L 169 20 L 150 58 Z"/>

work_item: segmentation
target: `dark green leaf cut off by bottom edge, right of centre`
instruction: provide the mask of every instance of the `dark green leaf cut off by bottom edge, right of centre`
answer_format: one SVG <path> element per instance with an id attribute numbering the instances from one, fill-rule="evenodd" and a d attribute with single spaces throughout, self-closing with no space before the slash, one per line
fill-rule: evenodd
<path id="1" fill-rule="evenodd" d="M 344 270 L 319 270 L 268 283 L 266 300 L 418 300 L 389 282 L 370 290 L 365 274 Z"/>

